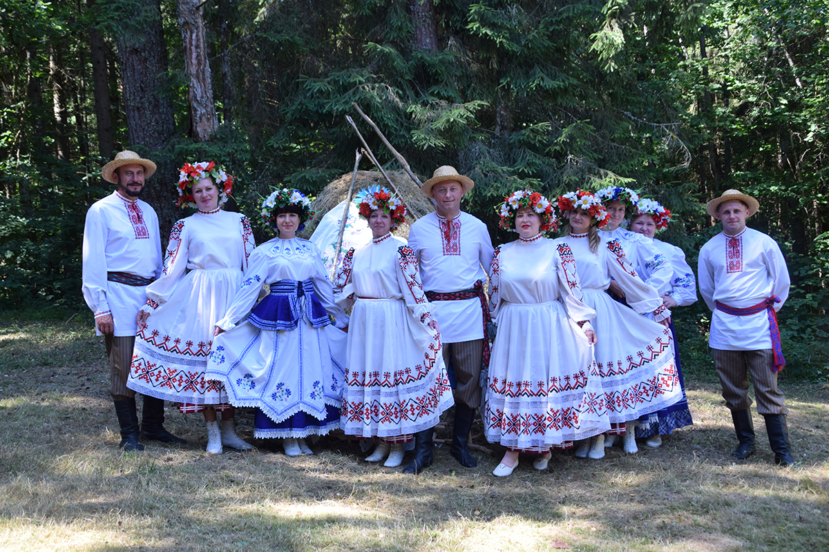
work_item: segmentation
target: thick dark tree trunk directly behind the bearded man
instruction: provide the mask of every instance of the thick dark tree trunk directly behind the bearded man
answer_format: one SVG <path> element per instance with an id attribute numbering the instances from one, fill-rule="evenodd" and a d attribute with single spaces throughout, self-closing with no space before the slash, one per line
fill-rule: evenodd
<path id="1" fill-rule="evenodd" d="M 140 27 L 124 26 L 117 36 L 124 112 L 127 116 L 130 147 L 143 146 L 158 165 L 148 182 L 143 199 L 153 205 L 161 224 L 162 242 L 181 212 L 175 206 L 178 194 L 173 160 L 160 153 L 173 136 L 172 101 L 164 90 L 167 76 L 167 47 L 164 44 L 159 0 L 136 0 L 134 21 Z"/>

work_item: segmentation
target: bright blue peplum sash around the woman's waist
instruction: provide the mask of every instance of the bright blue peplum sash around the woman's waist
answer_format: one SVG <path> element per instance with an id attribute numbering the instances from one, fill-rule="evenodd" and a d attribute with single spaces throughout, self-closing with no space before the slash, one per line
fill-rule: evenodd
<path id="1" fill-rule="evenodd" d="M 250 311 L 248 321 L 261 329 L 296 329 L 303 315 L 314 328 L 331 324 L 310 278 L 303 281 L 280 280 L 271 284 L 270 294 Z"/>

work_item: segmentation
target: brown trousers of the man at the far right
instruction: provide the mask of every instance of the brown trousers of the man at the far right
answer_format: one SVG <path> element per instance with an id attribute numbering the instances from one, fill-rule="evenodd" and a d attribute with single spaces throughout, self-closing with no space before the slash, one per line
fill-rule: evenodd
<path id="1" fill-rule="evenodd" d="M 754 383 L 754 397 L 757 399 L 759 414 L 788 414 L 783 405 L 783 393 L 778 390 L 778 372 L 772 372 L 774 353 L 772 349 L 757 351 L 724 351 L 711 349 L 714 366 L 723 386 L 725 406 L 730 410 L 747 410 L 751 406 L 749 397 L 749 374 Z"/>

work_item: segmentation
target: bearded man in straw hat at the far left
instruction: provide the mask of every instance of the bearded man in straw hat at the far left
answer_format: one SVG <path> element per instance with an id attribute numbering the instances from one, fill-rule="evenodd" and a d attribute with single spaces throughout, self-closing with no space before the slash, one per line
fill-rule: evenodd
<path id="1" fill-rule="evenodd" d="M 144 180 L 156 170 L 153 161 L 121 151 L 101 170 L 116 190 L 92 204 L 86 213 L 83 246 L 83 294 L 95 313 L 95 333 L 104 336 L 109 358 L 109 394 L 121 426 L 119 448 L 143 450 L 138 435 L 135 391 L 128 389 L 136 314 L 147 302 L 148 284 L 161 275 L 158 216 L 138 199 Z M 144 396 L 144 439 L 186 443 L 163 427 L 164 401 Z"/>

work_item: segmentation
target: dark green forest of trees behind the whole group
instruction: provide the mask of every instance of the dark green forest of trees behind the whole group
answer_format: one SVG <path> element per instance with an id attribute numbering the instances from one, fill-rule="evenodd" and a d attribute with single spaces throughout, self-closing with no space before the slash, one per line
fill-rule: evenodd
<path id="1" fill-rule="evenodd" d="M 496 243 L 513 190 L 627 185 L 696 266 L 705 201 L 753 194 L 793 277 L 786 373 L 827 382 L 827 22 L 825 0 L 0 0 L 0 315 L 88 315 L 80 235 L 115 151 L 158 163 L 164 235 L 184 161 L 228 166 L 254 219 L 269 185 L 351 170 L 356 102 L 419 175 L 475 180 Z M 684 365 L 709 366 L 709 315 L 677 310 Z"/>

